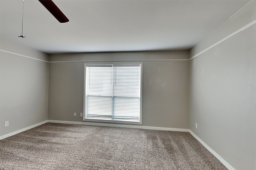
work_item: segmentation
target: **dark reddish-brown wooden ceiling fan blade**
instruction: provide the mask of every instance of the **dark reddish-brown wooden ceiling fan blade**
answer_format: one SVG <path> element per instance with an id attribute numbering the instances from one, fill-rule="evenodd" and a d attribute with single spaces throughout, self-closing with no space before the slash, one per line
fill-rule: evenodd
<path id="1" fill-rule="evenodd" d="M 61 10 L 52 2 L 52 0 L 39 0 L 41 4 L 60 22 L 68 22 L 68 18 L 61 12 Z"/>

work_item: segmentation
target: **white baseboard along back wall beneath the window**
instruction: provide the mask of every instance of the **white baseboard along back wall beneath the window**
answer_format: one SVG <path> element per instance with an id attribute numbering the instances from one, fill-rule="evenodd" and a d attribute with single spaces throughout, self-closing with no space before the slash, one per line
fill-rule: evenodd
<path id="1" fill-rule="evenodd" d="M 151 129 L 151 130 L 189 132 L 189 129 L 178 129 L 178 128 L 169 128 L 169 127 L 153 127 L 153 126 L 140 126 L 140 125 L 125 125 L 125 124 L 114 124 L 114 123 L 96 123 L 96 122 L 79 122 L 79 121 L 60 121 L 60 120 L 48 120 L 48 122 L 50 122 L 50 123 L 77 124 L 77 125 L 96 125 L 96 126 L 110 126 L 110 127 L 128 127 L 128 128 L 136 128 L 136 129 Z"/>

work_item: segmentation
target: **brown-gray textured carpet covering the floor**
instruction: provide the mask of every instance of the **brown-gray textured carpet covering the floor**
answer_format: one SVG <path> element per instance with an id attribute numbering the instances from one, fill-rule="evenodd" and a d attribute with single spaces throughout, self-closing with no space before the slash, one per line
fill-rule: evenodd
<path id="1" fill-rule="evenodd" d="M 227 170 L 190 133 L 46 123 L 0 141 L 1 170 Z"/>

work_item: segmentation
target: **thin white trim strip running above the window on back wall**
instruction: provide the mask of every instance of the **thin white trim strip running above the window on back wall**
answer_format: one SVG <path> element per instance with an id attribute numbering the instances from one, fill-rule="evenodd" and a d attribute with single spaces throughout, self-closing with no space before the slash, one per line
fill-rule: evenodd
<path id="1" fill-rule="evenodd" d="M 50 61 L 49 63 L 96 63 L 96 62 L 142 62 L 142 61 L 189 61 L 189 59 L 148 59 L 148 60 L 108 60 L 108 61 L 86 61 L 86 60 L 81 60 L 81 61 Z"/>

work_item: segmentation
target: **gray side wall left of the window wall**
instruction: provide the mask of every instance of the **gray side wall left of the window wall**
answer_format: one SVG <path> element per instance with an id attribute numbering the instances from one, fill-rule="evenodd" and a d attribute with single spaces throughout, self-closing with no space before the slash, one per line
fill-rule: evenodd
<path id="1" fill-rule="evenodd" d="M 4 39 L 0 49 L 49 59 L 45 53 Z M 49 63 L 0 51 L 0 136 L 47 120 L 48 81 Z"/>

